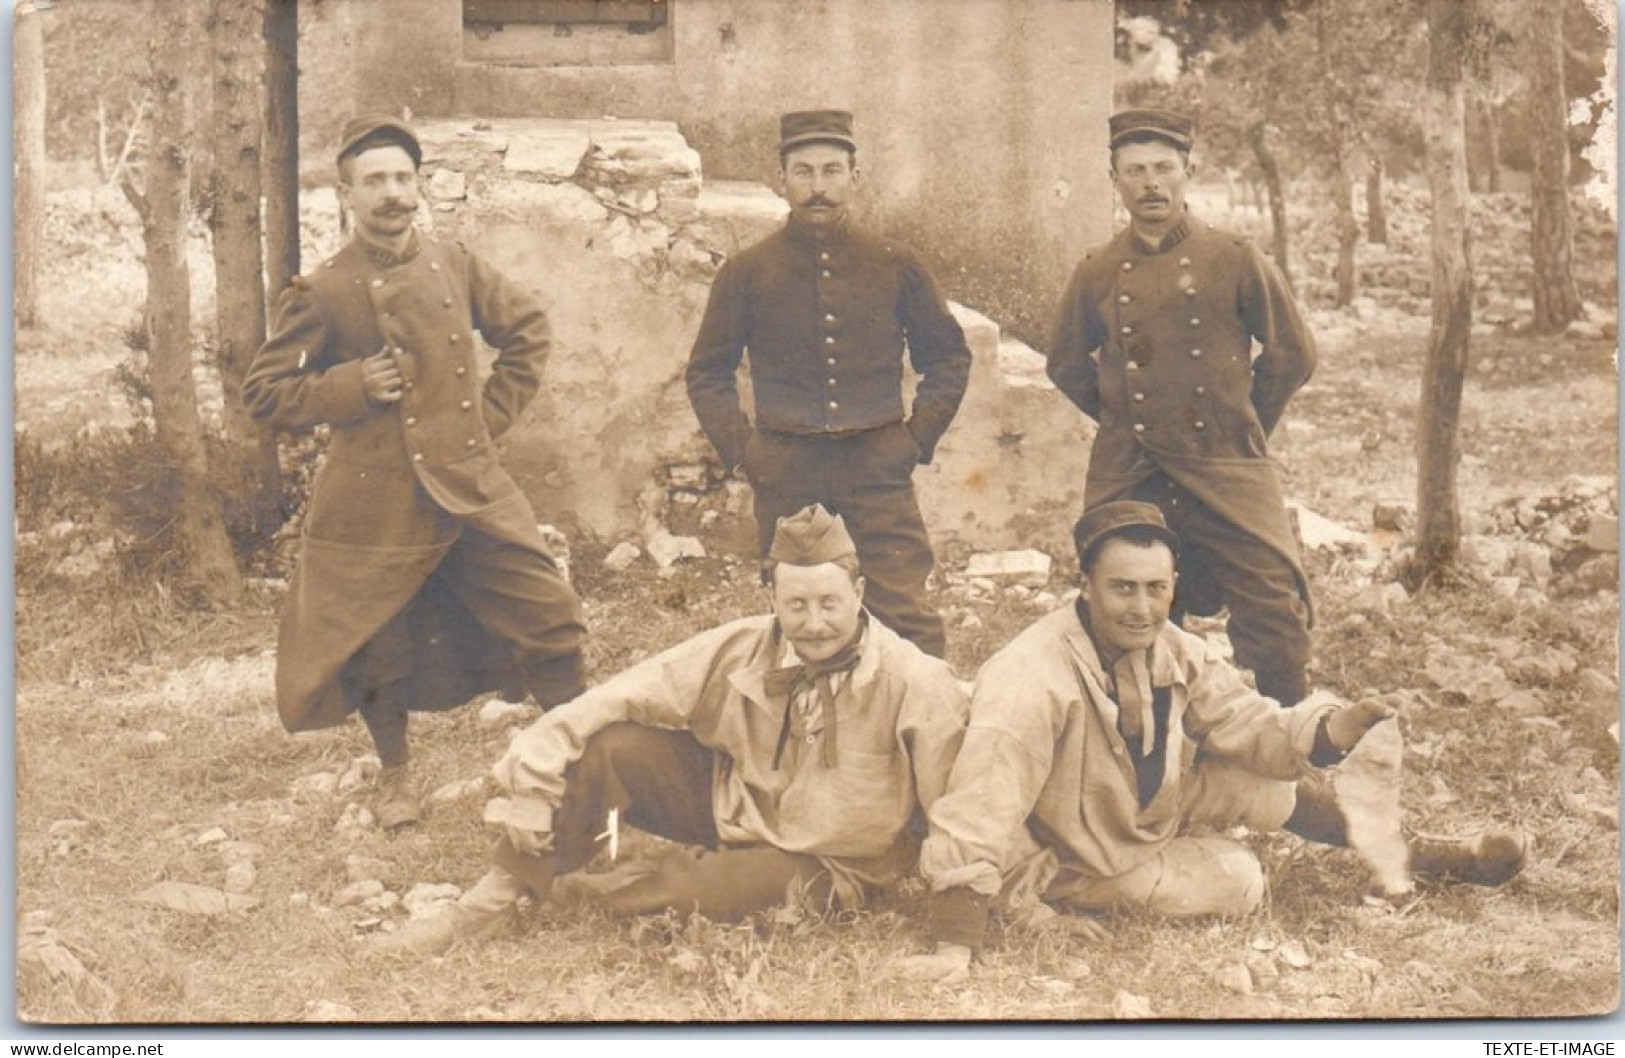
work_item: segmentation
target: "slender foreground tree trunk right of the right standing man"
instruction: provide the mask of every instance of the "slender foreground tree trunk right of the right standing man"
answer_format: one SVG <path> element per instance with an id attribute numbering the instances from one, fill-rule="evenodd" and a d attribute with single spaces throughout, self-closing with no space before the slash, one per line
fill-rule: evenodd
<path id="1" fill-rule="evenodd" d="M 1472 330 L 1466 101 L 1462 52 L 1474 0 L 1427 0 L 1428 73 L 1422 106 L 1433 195 L 1433 322 L 1417 408 L 1417 553 L 1427 583 L 1454 562 L 1461 543 L 1456 466 L 1461 392 Z"/>

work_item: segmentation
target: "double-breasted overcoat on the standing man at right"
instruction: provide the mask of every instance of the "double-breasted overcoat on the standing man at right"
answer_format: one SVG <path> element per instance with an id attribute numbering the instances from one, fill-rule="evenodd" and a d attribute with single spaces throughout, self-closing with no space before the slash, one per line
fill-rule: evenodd
<path id="1" fill-rule="evenodd" d="M 1305 605 L 1268 437 L 1313 371 L 1315 338 L 1280 270 L 1190 218 L 1157 245 L 1124 229 L 1092 250 L 1048 353 L 1056 388 L 1100 424 L 1086 505 L 1160 470 L 1290 562 Z"/>

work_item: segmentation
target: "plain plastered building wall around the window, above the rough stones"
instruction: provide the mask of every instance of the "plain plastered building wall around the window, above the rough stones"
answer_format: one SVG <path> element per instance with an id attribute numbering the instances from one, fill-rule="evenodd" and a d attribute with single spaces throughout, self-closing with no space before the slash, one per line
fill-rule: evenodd
<path id="1" fill-rule="evenodd" d="M 864 219 L 920 249 L 954 297 L 1048 319 L 1107 237 L 1112 0 L 668 2 L 666 47 L 640 46 L 668 60 L 588 65 L 473 39 L 462 0 L 304 0 L 307 156 L 325 166 L 361 109 L 613 115 L 676 122 L 707 179 L 770 184 L 778 114 L 832 106 L 856 114 Z"/>

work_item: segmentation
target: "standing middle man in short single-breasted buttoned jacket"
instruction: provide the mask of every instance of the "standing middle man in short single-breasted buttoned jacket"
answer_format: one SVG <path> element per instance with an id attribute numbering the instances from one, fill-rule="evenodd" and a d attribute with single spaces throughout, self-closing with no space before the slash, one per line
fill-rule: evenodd
<path id="1" fill-rule="evenodd" d="M 751 481 L 760 556 L 778 518 L 822 504 L 858 544 L 874 616 L 942 657 L 913 470 L 931 462 L 959 410 L 970 349 L 920 258 L 850 223 L 856 150 L 852 114 L 785 114 L 778 182 L 790 221 L 717 273 L 689 356 L 689 400 L 723 465 Z M 905 348 L 921 375 L 910 410 Z M 754 426 L 734 377 L 746 349 Z"/>

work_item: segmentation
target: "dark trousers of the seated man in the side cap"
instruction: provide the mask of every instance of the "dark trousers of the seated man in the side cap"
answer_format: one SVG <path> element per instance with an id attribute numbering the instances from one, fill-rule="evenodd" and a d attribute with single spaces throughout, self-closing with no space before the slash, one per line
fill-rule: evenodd
<path id="1" fill-rule="evenodd" d="M 564 772 L 564 800 L 552 813 L 551 855 L 528 856 L 507 840 L 492 860 L 546 894 L 552 879 L 585 866 L 608 842 L 608 816 L 692 848 L 618 873 L 598 902 L 619 915 L 674 908 L 717 921 L 782 904 L 791 886 L 829 897 L 816 856 L 772 845 L 722 847 L 712 816 L 713 754 L 687 731 L 616 723 L 588 739 Z"/>

